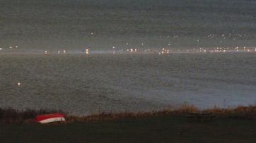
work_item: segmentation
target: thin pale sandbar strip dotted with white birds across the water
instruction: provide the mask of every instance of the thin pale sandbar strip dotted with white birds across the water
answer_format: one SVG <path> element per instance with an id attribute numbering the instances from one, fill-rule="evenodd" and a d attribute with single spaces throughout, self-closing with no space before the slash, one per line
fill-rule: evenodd
<path id="1" fill-rule="evenodd" d="M 235 48 L 197 48 L 197 49 L 120 49 L 120 50 L 21 50 L 21 49 L 1 49 L 1 54 L 197 54 L 197 53 L 253 53 L 255 47 L 235 47 Z"/>

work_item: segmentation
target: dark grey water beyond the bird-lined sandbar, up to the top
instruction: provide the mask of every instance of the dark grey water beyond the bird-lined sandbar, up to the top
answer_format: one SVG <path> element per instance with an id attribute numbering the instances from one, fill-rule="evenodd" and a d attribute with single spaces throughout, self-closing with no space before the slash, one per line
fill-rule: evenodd
<path id="1" fill-rule="evenodd" d="M 0 1 L 0 46 L 41 50 L 255 46 L 256 1 Z M 127 44 L 128 43 L 128 44 Z M 143 44 L 143 45 L 142 45 Z"/>

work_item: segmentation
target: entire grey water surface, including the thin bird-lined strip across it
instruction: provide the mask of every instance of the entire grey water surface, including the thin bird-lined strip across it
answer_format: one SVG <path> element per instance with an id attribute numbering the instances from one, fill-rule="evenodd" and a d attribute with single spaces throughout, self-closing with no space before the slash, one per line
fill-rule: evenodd
<path id="1" fill-rule="evenodd" d="M 256 1 L 0 0 L 0 106 L 256 104 Z"/>

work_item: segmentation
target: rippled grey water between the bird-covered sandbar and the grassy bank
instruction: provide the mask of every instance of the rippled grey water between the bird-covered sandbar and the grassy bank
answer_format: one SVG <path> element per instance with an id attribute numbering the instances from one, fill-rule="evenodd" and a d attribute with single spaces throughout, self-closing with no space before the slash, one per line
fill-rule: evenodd
<path id="1" fill-rule="evenodd" d="M 86 115 L 256 102 L 255 52 L 1 54 L 0 67 L 0 105 L 18 109 Z"/>

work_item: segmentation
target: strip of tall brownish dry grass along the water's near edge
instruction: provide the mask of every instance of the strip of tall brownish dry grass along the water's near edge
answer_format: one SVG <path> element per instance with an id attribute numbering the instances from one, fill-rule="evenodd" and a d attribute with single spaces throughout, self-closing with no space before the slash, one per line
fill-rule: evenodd
<path id="1" fill-rule="evenodd" d="M 117 120 L 122 118 L 146 118 L 152 116 L 169 116 L 175 114 L 185 114 L 189 112 L 209 112 L 223 118 L 240 118 L 246 120 L 256 120 L 256 105 L 255 106 L 238 106 L 236 108 L 208 108 L 199 110 L 196 106 L 183 104 L 180 108 L 164 108 L 161 111 L 148 112 L 120 112 L 120 113 L 95 113 L 90 116 L 72 116 L 62 110 L 52 109 L 26 109 L 16 110 L 13 108 L 0 108 L 0 123 L 36 123 L 34 118 L 37 115 L 47 113 L 63 113 L 66 118 L 66 123 L 81 123 L 88 121 L 102 120 Z"/>

